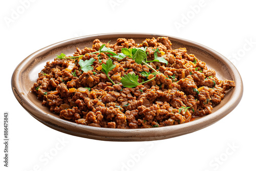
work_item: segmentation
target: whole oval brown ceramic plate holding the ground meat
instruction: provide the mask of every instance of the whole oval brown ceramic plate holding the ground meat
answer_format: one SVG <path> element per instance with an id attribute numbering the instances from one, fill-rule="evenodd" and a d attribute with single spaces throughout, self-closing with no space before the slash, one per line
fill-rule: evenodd
<path id="1" fill-rule="evenodd" d="M 66 55 L 72 55 L 76 48 L 92 47 L 93 40 L 98 38 L 102 42 L 116 42 L 119 37 L 133 38 L 137 43 L 152 37 L 161 37 L 166 35 L 148 34 L 148 33 L 110 33 L 97 34 L 73 38 L 45 47 L 35 53 L 29 55 L 26 59 L 19 63 L 12 76 L 12 90 L 18 102 L 26 109 L 34 118 L 45 125 L 57 131 L 97 140 L 106 141 L 150 141 L 172 138 L 188 134 L 209 126 L 228 113 L 230 113 L 243 95 L 243 82 L 238 70 L 232 63 L 218 52 L 207 48 L 196 42 L 185 40 L 182 38 L 169 37 L 172 42 L 173 49 L 185 47 L 188 54 L 195 54 L 197 58 L 206 62 L 206 66 L 214 69 L 219 79 L 233 80 L 236 82 L 236 88 L 227 92 L 223 101 L 215 106 L 210 115 L 198 118 L 194 121 L 164 127 L 155 127 L 151 129 L 109 129 L 94 126 L 81 125 L 60 119 L 58 115 L 53 114 L 36 98 L 36 95 L 30 92 L 33 83 L 38 77 L 38 73 L 44 68 L 47 61 L 53 61 L 55 54 L 61 52 Z"/>

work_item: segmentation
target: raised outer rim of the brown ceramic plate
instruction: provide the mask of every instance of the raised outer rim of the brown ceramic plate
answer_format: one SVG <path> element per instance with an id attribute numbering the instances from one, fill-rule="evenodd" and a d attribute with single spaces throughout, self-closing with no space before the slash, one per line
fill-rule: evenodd
<path id="1" fill-rule="evenodd" d="M 20 91 L 22 88 L 18 86 L 18 81 L 20 79 L 20 76 L 22 75 L 22 69 L 26 66 L 26 64 L 31 61 L 32 59 L 35 59 L 36 56 L 46 50 L 50 51 L 53 50 L 57 47 L 62 47 L 65 46 L 66 44 L 71 44 L 71 42 L 79 42 L 82 39 L 87 39 L 87 38 L 92 38 L 93 37 L 101 37 L 101 36 L 107 36 L 107 35 L 112 35 L 112 36 L 120 36 L 120 35 L 125 35 L 126 37 L 129 37 L 129 35 L 141 35 L 143 37 L 146 36 L 166 36 L 171 39 L 175 39 L 175 41 L 182 41 L 186 43 L 186 45 L 189 46 L 194 46 L 199 49 L 202 49 L 203 51 L 213 55 L 218 56 L 218 59 L 224 63 L 227 68 L 230 68 L 229 73 L 232 74 L 231 76 L 233 77 L 234 81 L 236 82 L 236 88 L 232 88 L 232 94 L 230 96 L 230 101 L 228 101 L 224 106 L 226 108 L 225 113 L 221 114 L 223 111 L 223 107 L 221 107 L 219 110 L 215 111 L 212 114 L 206 115 L 198 120 L 194 120 L 191 122 L 187 122 L 184 124 L 178 124 L 178 125 L 170 125 L 170 126 L 163 126 L 163 127 L 156 127 L 156 128 L 148 128 L 148 129 L 110 129 L 110 128 L 102 128 L 102 127 L 94 127 L 94 126 L 89 126 L 89 125 L 82 125 L 78 124 L 75 122 L 67 121 L 64 119 L 60 119 L 57 117 L 54 117 L 50 114 L 45 113 L 44 111 L 40 111 L 36 108 L 34 108 L 33 105 L 29 103 L 29 100 L 24 98 L 24 96 Z M 95 38 L 94 38 L 95 39 Z M 41 48 L 40 50 L 32 53 L 25 59 L 23 59 L 18 66 L 15 68 L 12 78 L 11 78 L 11 86 L 12 86 L 12 91 L 15 96 L 15 98 L 18 100 L 18 102 L 23 106 L 23 108 L 30 114 L 32 115 L 35 119 L 40 121 L 41 123 L 51 127 L 52 129 L 55 129 L 57 131 L 67 133 L 70 135 L 75 135 L 79 137 L 84 137 L 84 138 L 90 138 L 90 139 L 97 139 L 97 140 L 107 140 L 107 141 L 149 141 L 149 140 L 160 140 L 160 139 L 166 139 L 166 138 L 172 138 L 172 137 L 177 137 L 181 136 L 184 134 L 192 133 L 198 130 L 203 129 L 204 127 L 207 127 L 226 115 L 228 115 L 236 106 L 239 104 L 239 102 L 242 99 L 243 96 L 243 81 L 242 77 L 237 70 L 237 68 L 222 54 L 219 52 L 212 50 L 211 48 L 208 48 L 202 44 L 199 44 L 197 42 L 187 40 L 184 38 L 179 38 L 179 37 L 174 37 L 174 36 L 169 36 L 169 35 L 164 35 L 164 34 L 155 34 L 155 33 L 129 33 L 129 32 L 124 32 L 124 33 L 101 33 L 101 34 L 93 34 L 93 35 L 86 35 L 86 36 L 80 36 L 76 38 L 71 38 L 67 40 L 63 40 L 60 42 L 56 42 L 55 44 L 49 45 L 45 48 Z M 234 101 L 233 101 L 234 100 Z M 232 103 L 232 104 L 231 104 Z M 222 110 L 221 110 L 222 109 Z M 50 111 L 49 111 L 50 113 Z M 49 116 L 50 118 L 44 120 L 45 116 Z M 49 122 L 49 120 L 52 119 L 52 122 Z M 57 124 L 56 124 L 57 123 Z M 86 130 L 88 134 L 86 133 L 78 133 L 74 132 L 70 129 L 67 129 L 67 127 L 61 127 L 59 125 L 67 125 L 67 126 L 72 126 L 74 130 L 80 130 L 84 131 Z M 200 127 L 197 127 L 197 125 L 201 125 Z M 193 127 L 197 127 L 197 129 L 193 129 Z M 192 129 L 191 129 L 192 128 Z M 180 130 L 184 130 L 182 132 L 179 132 Z M 192 130 L 192 131 L 191 131 Z M 178 131 L 178 132 L 177 132 Z M 95 132 L 101 133 L 101 134 L 95 134 Z M 157 135 L 159 132 L 161 132 L 161 135 Z M 177 132 L 177 133 L 176 133 Z M 104 134 L 105 136 L 103 136 Z M 173 133 L 173 134 L 169 134 Z M 176 133 L 176 134 L 175 134 Z M 125 134 L 125 136 L 123 136 Z M 143 136 L 141 136 L 143 135 Z M 155 135 L 155 136 L 152 136 Z"/>

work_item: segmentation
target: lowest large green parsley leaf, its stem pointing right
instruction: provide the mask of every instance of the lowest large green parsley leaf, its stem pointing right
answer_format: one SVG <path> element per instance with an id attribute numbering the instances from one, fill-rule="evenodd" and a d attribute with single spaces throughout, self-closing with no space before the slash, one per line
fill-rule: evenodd
<path id="1" fill-rule="evenodd" d="M 133 74 L 127 74 L 127 75 L 124 75 L 123 77 L 121 77 L 121 82 L 123 84 L 123 87 L 127 87 L 127 88 L 134 88 L 136 86 L 139 86 L 140 84 L 143 84 L 143 83 L 146 83 L 148 81 L 151 81 L 153 79 L 155 79 L 156 77 L 153 77 L 149 80 L 146 80 L 146 81 L 143 81 L 141 83 L 138 82 L 138 79 L 139 79 L 139 76 L 138 75 L 135 75 L 134 73 Z"/>

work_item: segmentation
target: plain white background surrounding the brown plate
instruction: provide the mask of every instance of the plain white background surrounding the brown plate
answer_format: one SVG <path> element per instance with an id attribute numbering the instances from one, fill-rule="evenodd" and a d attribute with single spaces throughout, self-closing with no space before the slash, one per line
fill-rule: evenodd
<path id="1" fill-rule="evenodd" d="M 252 2 L 1 1 L 0 137 L 3 114 L 10 115 L 9 167 L 3 166 L 1 143 L 1 170 L 255 170 L 256 10 Z M 165 34 L 216 50 L 234 63 L 243 78 L 240 104 L 195 133 L 151 142 L 108 142 L 50 129 L 17 102 L 11 76 L 28 55 L 62 40 L 111 32 Z"/>

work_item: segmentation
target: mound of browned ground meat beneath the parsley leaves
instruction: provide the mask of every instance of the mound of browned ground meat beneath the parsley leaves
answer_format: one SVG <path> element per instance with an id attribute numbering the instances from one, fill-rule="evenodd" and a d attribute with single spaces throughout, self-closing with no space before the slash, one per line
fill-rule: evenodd
<path id="1" fill-rule="evenodd" d="M 233 81 L 219 80 L 214 70 L 187 54 L 185 48 L 173 50 L 168 37 L 147 38 L 139 43 L 125 38 L 118 38 L 115 44 L 95 39 L 92 48 L 77 48 L 73 58 L 48 61 L 32 91 L 42 105 L 62 119 L 97 127 L 138 129 L 181 124 L 208 115 L 225 91 L 235 87 Z M 122 48 L 143 47 L 147 61 L 162 57 L 167 64 L 139 64 L 128 56 L 118 59 L 108 52 L 97 52 L 102 45 L 116 54 Z M 92 69 L 82 71 L 78 62 L 92 58 Z M 115 67 L 107 76 L 102 67 L 109 58 Z M 152 80 L 124 87 L 121 79 L 127 74 L 138 76 L 138 83 Z"/>

